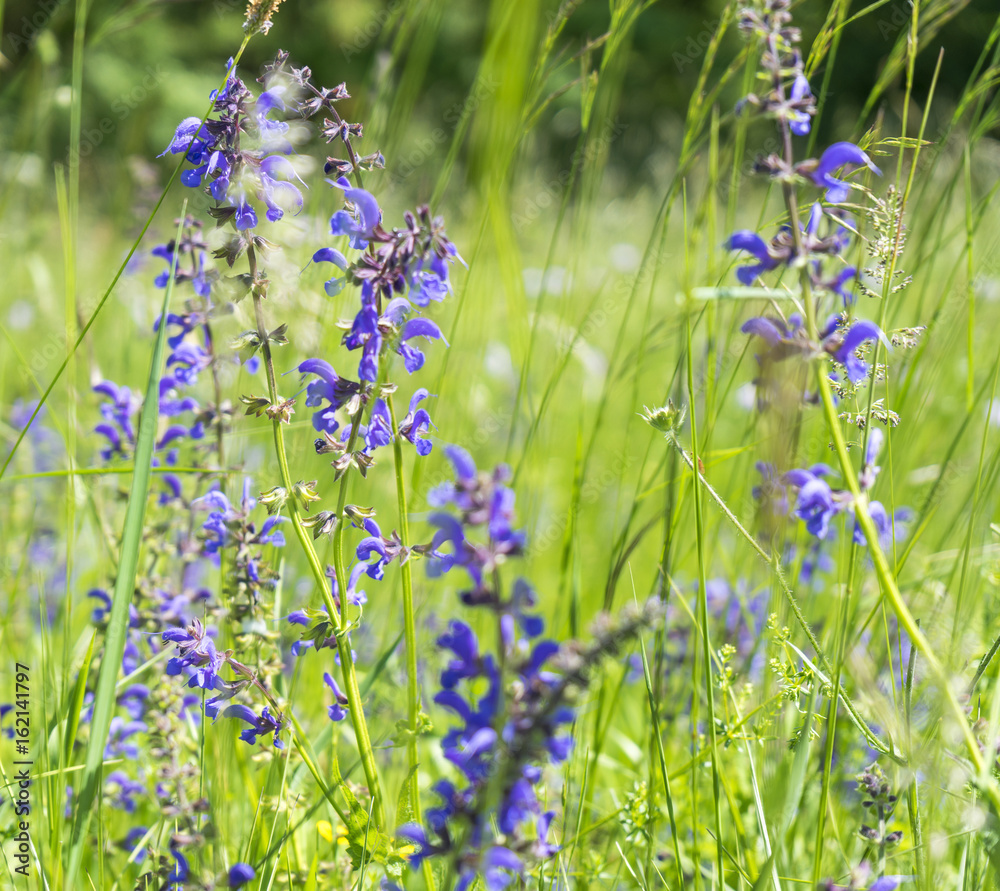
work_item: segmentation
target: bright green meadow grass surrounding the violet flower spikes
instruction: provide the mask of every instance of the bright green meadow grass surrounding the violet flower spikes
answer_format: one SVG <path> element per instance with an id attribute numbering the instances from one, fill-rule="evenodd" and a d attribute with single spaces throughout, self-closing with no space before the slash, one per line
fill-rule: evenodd
<path id="1" fill-rule="evenodd" d="M 70 152 L 74 157 L 75 145 L 77 158 L 88 5 L 76 5 L 73 38 Z M 773 231 L 784 218 L 780 189 L 748 175 L 770 131 L 732 110 L 753 88 L 758 61 L 746 44 L 732 43 L 733 57 L 723 53 L 739 4 L 724 7 L 704 41 L 686 118 L 666 136 L 668 169 L 634 179 L 614 163 L 619 140 L 630 138 L 616 114 L 649 4 L 613 2 L 605 30 L 574 42 L 565 26 L 584 6 L 495 0 L 482 11 L 479 67 L 463 85 L 468 99 L 441 109 L 422 83 L 447 13 L 434 3 L 406 4 L 378 38 L 384 71 L 352 109 L 353 119 L 370 122 L 366 146 L 386 153 L 388 174 L 417 134 L 445 135 L 411 162 L 410 175 L 372 176 L 365 184 L 394 218 L 432 195 L 467 262 L 456 272 L 457 299 L 439 317 L 451 347 L 424 372 L 436 395 L 437 441 L 463 445 L 480 467 L 512 466 L 529 531 L 524 571 L 539 592 L 548 633 L 586 638 L 602 611 L 649 596 L 666 604 L 664 624 L 634 642 L 634 658 L 605 663 L 578 703 L 573 753 L 546 781 L 548 805 L 559 811 L 560 849 L 524 886 L 847 885 L 868 861 L 916 888 L 991 887 L 1000 880 L 1000 677 L 993 658 L 1000 641 L 1000 17 L 983 35 L 981 55 L 969 60 L 958 102 L 943 108 L 933 89 L 918 85 L 915 66 L 936 56 L 936 35 L 964 4 L 915 2 L 886 45 L 883 74 L 855 129 L 835 134 L 863 140 L 883 168 L 884 181 L 872 184 L 876 196 L 894 189 L 881 218 L 857 214 L 863 237 L 885 235 L 897 244 L 888 248 L 880 295 L 861 296 L 862 308 L 887 331 L 924 330 L 912 349 L 876 348 L 872 358 L 887 374 L 856 403 L 825 406 L 831 431 L 824 407 L 759 412 L 753 404 L 754 345 L 739 327 L 769 301 L 787 310 L 794 283 L 787 276 L 767 292 L 733 287 L 734 264 L 722 248 L 736 228 Z M 829 4 L 807 59 L 814 89 L 823 91 L 821 119 L 834 118 L 843 41 L 884 13 L 880 3 Z M 240 16 L 227 16 L 236 35 Z M 156 19 L 131 27 L 155 28 Z M 293 46 L 280 11 L 272 42 L 275 36 Z M 17 85 L 25 114 L 57 107 L 44 51 L 44 42 L 34 50 L 41 75 Z M 198 73 L 205 91 L 216 85 L 220 61 L 206 60 Z M 579 124 L 576 150 L 561 168 L 540 148 L 557 109 L 571 110 Z M 35 163 L 17 137 L 7 148 L 20 153 L 22 167 Z M 163 195 L 146 202 L 149 219 L 138 227 L 127 218 L 128 202 L 120 218 L 92 210 L 105 206 L 97 200 L 98 166 L 58 168 L 54 177 L 45 159 L 45 174 L 33 184 L 19 181 L 15 166 L 0 198 L 7 270 L 0 300 L 0 650 L 8 654 L 0 701 L 13 697 L 15 662 L 30 665 L 34 778 L 31 875 L 13 871 L 5 844 L 5 887 L 125 889 L 156 870 L 116 847 L 139 821 L 99 793 L 101 771 L 121 765 L 101 759 L 115 692 L 171 680 L 162 658 L 127 679 L 104 670 L 120 661 L 112 629 L 135 588 L 132 564 L 142 586 L 158 559 L 134 537 L 142 531 L 136 524 L 149 456 L 137 456 L 134 466 L 100 466 L 90 388 L 103 378 L 142 386 L 150 357 L 155 371 L 162 350 L 162 332 L 155 343 L 150 335 L 158 312 L 152 273 L 126 266 L 133 251 L 139 256 L 154 243 L 149 231 L 169 237 L 180 209 L 176 171 L 158 163 Z M 325 231 L 329 213 L 326 195 L 307 193 L 295 237 L 305 242 Z M 852 262 L 871 266 L 862 245 L 856 240 Z M 300 258 L 288 253 L 279 266 L 298 274 Z M 347 312 L 345 303 L 321 299 L 315 267 L 297 281 L 285 311 L 295 336 L 283 348 L 296 351 L 295 362 L 331 354 L 341 337 L 336 322 Z M 241 303 L 220 324 L 220 342 L 254 326 L 249 301 Z M 293 358 L 278 353 L 275 361 L 287 370 Z M 274 386 L 291 392 L 284 381 L 290 378 Z M 240 379 L 239 387 L 249 385 Z M 688 422 L 665 440 L 640 413 L 668 398 L 686 406 Z M 13 421 L 20 400 L 44 403 L 30 429 Z M 899 423 L 887 431 L 880 492 L 888 508 L 912 509 L 908 534 L 873 562 L 848 528 L 830 548 L 831 569 L 803 582 L 807 537 L 791 521 L 764 527 L 751 494 L 759 482 L 755 462 L 787 469 L 840 457 L 856 465 L 877 423 L 872 413 L 883 410 Z M 846 412 L 864 426 L 838 418 Z M 47 440 L 38 438 L 43 425 Z M 317 465 L 308 412 L 301 408 L 283 429 L 285 475 L 311 479 Z M 450 478 L 441 453 L 436 448 L 412 464 L 396 455 L 392 481 L 377 476 L 362 489 L 352 478 L 343 499 L 371 502 L 380 519 L 401 508 L 395 525 L 402 534 L 429 538 L 427 494 Z M 272 432 L 250 420 L 236 424 L 226 456 L 217 478 L 230 495 L 244 471 L 277 482 L 283 469 Z M 207 479 L 218 470 L 175 472 Z M 149 476 L 160 471 L 153 467 Z M 130 476 L 136 483 L 127 490 Z M 788 562 L 792 544 L 798 556 Z M 315 565 L 286 551 L 265 629 L 285 638 L 282 617 L 313 598 L 310 573 L 318 567 L 322 582 L 322 564 L 337 560 L 333 546 L 317 546 L 309 561 Z M 118 612 L 95 638 L 85 595 L 109 577 L 121 589 Z M 721 590 L 716 581 L 731 589 L 731 600 L 713 599 Z M 221 592 L 219 577 L 206 584 Z M 365 865 L 352 872 L 341 838 L 360 833 L 366 850 L 381 843 L 379 830 L 391 833 L 419 816 L 418 795 L 426 809 L 432 783 L 450 775 L 438 746 L 450 719 L 432 703 L 442 659 L 433 642 L 457 615 L 482 639 L 490 627 L 461 612 L 457 585 L 448 576 L 427 579 L 417 563 L 412 577 L 387 573 L 377 592 L 369 591 L 355 645 L 376 765 L 362 763 L 350 729 L 327 721 L 309 673 L 314 666 L 302 660 L 277 675 L 296 721 L 284 754 L 241 743 L 231 722 L 187 721 L 210 802 L 204 880 L 241 861 L 254 865 L 255 889 L 378 887 L 377 863 L 362 855 Z M 419 665 L 407 662 L 401 643 L 411 601 L 411 653 Z M 229 633 L 219 641 L 220 649 L 235 645 Z M 95 693 L 89 729 L 79 720 L 87 690 Z M 433 724 L 419 737 L 418 771 L 416 742 L 392 743 L 397 721 L 411 731 L 418 726 L 415 692 Z M 5 799 L 17 790 L 13 760 L 4 738 Z M 154 776 L 160 765 L 145 752 L 140 760 Z M 874 761 L 899 796 L 887 831 L 901 831 L 902 839 L 888 852 L 859 836 L 870 817 L 855 776 Z M 369 813 L 355 785 L 376 779 L 385 790 L 384 822 L 383 804 L 370 799 Z M 71 819 L 64 816 L 67 787 L 74 790 Z M 139 808 L 148 827 L 141 844 L 166 854 L 171 815 L 148 792 Z M 13 829 L 9 802 L 0 814 L 0 831 Z M 164 875 L 140 887 L 164 887 Z M 402 881 L 420 888 L 450 880 L 442 866 L 433 874 L 408 870 Z"/>

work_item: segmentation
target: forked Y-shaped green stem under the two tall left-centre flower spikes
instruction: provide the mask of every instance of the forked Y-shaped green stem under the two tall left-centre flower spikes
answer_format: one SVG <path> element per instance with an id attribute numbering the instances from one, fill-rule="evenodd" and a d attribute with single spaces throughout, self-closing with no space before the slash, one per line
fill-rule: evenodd
<path id="1" fill-rule="evenodd" d="M 250 261 L 251 288 L 253 292 L 254 317 L 257 324 L 257 335 L 261 341 L 261 353 L 264 357 L 264 368 L 267 373 L 268 396 L 272 403 L 278 402 L 278 388 L 274 376 L 274 363 L 271 358 L 271 345 L 267 338 L 267 328 L 264 325 L 263 298 L 258 289 L 257 282 L 257 258 L 253 247 L 247 251 Z M 313 547 L 309 533 L 302 525 L 302 517 L 299 514 L 299 506 L 292 495 L 292 478 L 288 470 L 288 456 L 285 451 L 284 432 L 281 429 L 280 418 L 272 420 L 274 430 L 274 449 L 278 458 L 278 468 L 281 473 L 281 483 L 289 493 L 287 503 L 288 515 L 292 521 L 292 528 L 295 536 L 302 546 L 306 555 L 309 568 L 312 571 L 316 585 L 322 594 L 330 618 L 339 623 L 337 633 L 337 649 L 340 653 L 340 667 L 344 678 L 345 694 L 348 699 L 348 711 L 351 715 L 351 723 L 354 725 L 354 736 L 357 741 L 358 753 L 361 756 L 361 765 L 365 771 L 365 779 L 372 799 L 375 802 L 375 820 L 379 826 L 385 826 L 385 806 L 383 804 L 382 787 L 379 782 L 378 770 L 375 765 L 375 752 L 372 748 L 371 737 L 368 733 L 368 724 L 365 721 L 364 708 L 361 703 L 361 691 L 358 688 L 357 674 L 354 670 L 354 658 L 351 654 L 351 645 L 347 639 L 348 617 L 347 617 L 347 579 L 344 573 L 344 559 L 342 552 L 342 532 L 344 526 L 344 502 L 346 500 L 346 475 L 342 478 L 340 487 L 340 498 L 337 508 L 337 528 L 334 532 L 334 569 L 337 574 L 337 590 L 340 591 L 341 609 L 338 613 L 337 605 L 334 602 L 330 591 L 330 583 L 326 577 L 326 572 L 320 562 L 319 555 Z M 358 423 L 354 424 L 351 433 L 351 444 L 357 436 Z"/>

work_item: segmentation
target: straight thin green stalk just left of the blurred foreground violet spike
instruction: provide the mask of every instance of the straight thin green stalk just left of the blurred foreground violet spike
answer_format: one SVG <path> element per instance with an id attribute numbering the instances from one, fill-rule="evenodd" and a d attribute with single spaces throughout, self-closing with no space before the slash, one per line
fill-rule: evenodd
<path id="1" fill-rule="evenodd" d="M 389 409 L 389 419 L 392 423 L 392 456 L 396 471 L 396 503 L 399 507 L 399 535 L 403 547 L 410 541 L 410 518 L 406 506 L 406 484 L 403 482 L 403 444 L 400 441 L 399 423 L 396 420 L 396 409 L 392 402 L 392 394 L 386 394 L 385 404 Z M 409 734 L 406 738 L 406 763 L 409 769 L 410 806 L 413 809 L 413 819 L 421 822 L 420 809 L 420 748 L 418 730 L 420 722 L 420 686 L 417 678 L 417 623 L 413 612 L 413 572 L 409 560 L 404 560 L 399 568 L 403 580 L 403 634 L 406 638 L 406 719 Z M 428 859 L 423 861 L 423 875 L 427 887 L 434 888 L 434 872 Z"/>

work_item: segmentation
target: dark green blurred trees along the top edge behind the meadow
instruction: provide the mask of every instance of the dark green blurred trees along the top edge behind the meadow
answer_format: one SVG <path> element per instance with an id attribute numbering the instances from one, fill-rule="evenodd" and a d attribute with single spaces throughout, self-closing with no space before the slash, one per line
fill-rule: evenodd
<path id="1" fill-rule="evenodd" d="M 565 45 L 582 47 L 608 31 L 611 13 L 603 0 L 568 5 L 577 8 L 563 31 Z M 21 168 L 26 179 L 41 175 L 49 162 L 65 157 L 74 6 L 73 0 L 0 4 L 0 150 L 7 177 L 11 153 L 14 158 L 31 153 L 28 168 Z M 803 30 L 805 46 L 829 6 L 825 0 L 796 5 L 796 23 Z M 856 122 L 896 39 L 909 26 L 910 4 L 904 0 L 855 3 L 850 13 L 870 6 L 878 8 L 849 25 L 838 48 L 832 114 L 822 122 L 821 140 Z M 922 6 L 925 14 L 940 19 L 940 30 L 935 28 L 933 41 L 923 44 L 917 93 L 930 82 L 934 50 L 945 47 L 937 101 L 939 109 L 947 110 L 966 86 L 971 60 L 992 26 L 995 3 L 939 0 Z M 237 46 L 243 6 L 233 0 L 123 4 L 96 0 L 88 7 L 82 120 L 85 132 L 94 138 L 84 141 L 93 146 L 85 149 L 88 163 L 82 175 L 95 189 L 94 197 L 124 200 L 123 191 L 134 185 L 126 175 L 127 159 L 151 159 L 167 144 L 172 122 L 200 106 Z M 395 138 L 390 147 L 396 149 L 397 157 L 391 153 L 387 157 L 395 162 L 408 142 L 400 134 L 412 137 L 422 128 L 454 124 L 456 109 L 462 107 L 476 81 L 500 18 L 509 14 L 519 19 L 517 31 L 524 38 L 524 48 L 531 49 L 532 36 L 538 36 L 558 8 L 558 4 L 535 0 L 523 4 L 288 0 L 270 35 L 251 43 L 243 71 L 257 71 L 282 47 L 298 64 L 309 65 L 317 82 L 346 81 L 354 96 L 348 114 L 354 112 L 353 117 L 366 120 L 370 143 L 378 143 L 392 131 Z M 609 158 L 609 166 L 626 188 L 657 182 L 669 156 L 676 154 L 704 49 L 723 8 L 723 3 L 704 0 L 654 3 L 627 35 L 628 64 L 620 74 L 614 109 L 615 120 L 627 132 L 616 141 Z M 730 28 L 721 58 L 732 58 L 741 45 L 736 29 Z M 592 56 L 599 58 L 600 52 L 595 49 Z M 571 68 L 562 76 L 568 80 L 578 73 Z M 889 91 L 886 110 L 890 114 L 899 112 L 898 88 L 894 83 Z M 371 121 L 373 104 L 390 93 L 396 94 L 393 120 Z M 723 106 L 731 107 L 738 97 L 738 90 L 730 88 Z M 113 125 L 113 131 L 102 134 L 102 123 Z M 579 94 L 570 90 L 547 109 L 524 163 L 561 168 L 575 147 L 579 129 Z M 427 159 L 425 176 L 439 161 Z M 473 164 L 469 181 L 474 184 L 481 172 Z"/>

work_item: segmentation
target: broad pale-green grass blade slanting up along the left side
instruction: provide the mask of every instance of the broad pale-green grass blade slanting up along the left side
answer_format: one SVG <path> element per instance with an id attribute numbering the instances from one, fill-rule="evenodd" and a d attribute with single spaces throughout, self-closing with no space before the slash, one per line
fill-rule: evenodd
<path id="1" fill-rule="evenodd" d="M 187 213 L 187 202 L 181 208 L 180 222 L 177 226 L 177 241 L 180 242 L 184 216 Z M 167 281 L 166 292 L 163 295 L 162 317 L 166 318 L 170 296 L 173 293 L 174 275 L 177 271 L 179 252 L 174 252 L 170 262 L 170 278 Z M 156 335 L 156 345 L 153 347 L 153 360 L 149 369 L 149 383 L 146 386 L 146 398 L 142 406 L 142 416 L 139 422 L 139 432 L 135 445 L 135 473 L 132 475 L 132 488 L 129 492 L 128 508 L 125 512 L 125 527 L 122 532 L 121 556 L 118 562 L 118 575 L 115 579 L 114 600 L 108 619 L 108 630 L 104 639 L 104 652 L 101 654 L 101 671 L 97 678 L 97 691 L 94 694 L 94 716 L 90 725 L 90 739 L 87 742 L 87 755 L 84 763 L 83 782 L 80 798 L 73 820 L 73 830 L 70 839 L 69 864 L 66 869 L 65 887 L 74 887 L 80 861 L 83 858 L 83 848 L 86 843 L 87 829 L 90 826 L 91 810 L 95 800 L 99 802 L 101 784 L 101 762 L 104 760 L 104 746 L 108 739 L 111 726 L 111 716 L 115 709 L 115 684 L 121 669 L 122 653 L 125 650 L 125 635 L 128 630 L 128 608 L 135 592 L 135 577 L 139 564 L 139 549 L 142 546 L 142 530 L 146 518 L 146 500 L 149 494 L 150 466 L 153 460 L 153 449 L 156 445 L 156 428 L 160 405 L 160 369 L 163 367 L 163 354 L 167 341 L 167 326 L 160 325 Z"/>

